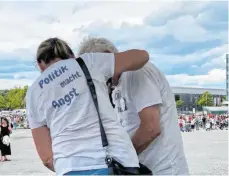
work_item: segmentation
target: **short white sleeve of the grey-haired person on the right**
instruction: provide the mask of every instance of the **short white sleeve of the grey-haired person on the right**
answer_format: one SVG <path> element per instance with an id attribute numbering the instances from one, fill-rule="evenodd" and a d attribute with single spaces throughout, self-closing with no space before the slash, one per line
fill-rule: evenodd
<path id="1" fill-rule="evenodd" d="M 142 69 L 132 72 L 128 90 L 138 113 L 146 107 L 162 104 L 160 89 L 156 81 L 149 78 Z"/>

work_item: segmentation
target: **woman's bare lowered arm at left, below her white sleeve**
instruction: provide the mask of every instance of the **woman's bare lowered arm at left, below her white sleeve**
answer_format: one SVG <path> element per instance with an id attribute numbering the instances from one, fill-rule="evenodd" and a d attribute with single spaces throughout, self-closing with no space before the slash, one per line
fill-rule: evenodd
<path id="1" fill-rule="evenodd" d="M 44 166 L 55 172 L 53 166 L 52 139 L 46 126 L 32 129 L 33 140 Z"/>

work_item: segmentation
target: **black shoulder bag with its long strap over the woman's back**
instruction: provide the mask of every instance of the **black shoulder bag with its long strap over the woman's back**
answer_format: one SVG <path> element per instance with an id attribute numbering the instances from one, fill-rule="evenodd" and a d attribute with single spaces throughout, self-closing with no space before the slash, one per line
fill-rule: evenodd
<path id="1" fill-rule="evenodd" d="M 101 133 L 101 140 L 102 140 L 102 145 L 103 148 L 106 151 L 106 158 L 105 162 L 108 166 L 109 170 L 109 175 L 152 175 L 152 172 L 143 164 L 140 164 L 140 169 L 137 167 L 124 167 L 121 163 L 116 161 L 114 158 L 108 155 L 108 140 L 107 136 L 103 127 L 103 123 L 100 117 L 99 113 L 99 105 L 98 105 L 98 99 L 97 99 L 97 94 L 95 90 L 95 85 L 92 81 L 90 72 L 88 71 L 88 68 L 86 64 L 84 63 L 82 58 L 77 58 L 76 61 L 78 62 L 79 66 L 81 67 L 82 71 L 84 72 L 84 75 L 87 79 L 87 84 L 91 92 L 91 96 L 95 105 L 95 108 L 98 113 L 98 118 L 99 118 L 99 127 L 100 127 L 100 133 Z"/>

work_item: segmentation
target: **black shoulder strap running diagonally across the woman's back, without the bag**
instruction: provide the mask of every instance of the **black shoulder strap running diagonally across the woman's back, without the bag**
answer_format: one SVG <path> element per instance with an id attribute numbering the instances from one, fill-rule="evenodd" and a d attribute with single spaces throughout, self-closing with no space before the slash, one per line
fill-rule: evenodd
<path id="1" fill-rule="evenodd" d="M 96 90 L 95 90 L 95 85 L 92 81 L 91 74 L 88 71 L 88 68 L 87 68 L 86 64 L 84 63 L 83 59 L 79 57 L 76 59 L 76 61 L 78 62 L 79 66 L 81 67 L 81 69 L 84 72 L 84 75 L 87 79 L 87 85 L 90 89 L 91 96 L 92 96 L 92 99 L 94 101 L 95 108 L 97 110 L 98 117 L 99 117 L 99 127 L 100 127 L 102 145 L 103 145 L 103 147 L 107 147 L 108 146 L 108 140 L 107 140 L 107 136 L 106 136 L 106 133 L 105 133 L 105 130 L 103 127 L 103 123 L 102 123 L 102 120 L 100 117 L 100 113 L 99 113 L 99 104 L 98 104 L 98 98 L 97 98 L 97 94 L 96 94 Z"/>

